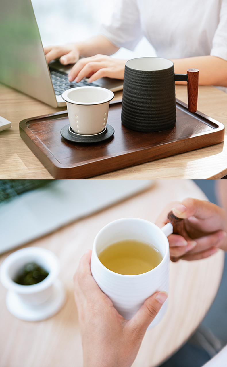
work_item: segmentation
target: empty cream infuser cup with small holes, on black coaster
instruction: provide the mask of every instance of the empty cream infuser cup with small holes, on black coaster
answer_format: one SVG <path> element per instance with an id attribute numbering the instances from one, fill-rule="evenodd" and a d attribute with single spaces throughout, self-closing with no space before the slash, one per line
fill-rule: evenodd
<path id="1" fill-rule="evenodd" d="M 114 93 L 101 87 L 76 87 L 63 92 L 68 119 L 74 132 L 82 135 L 99 134 L 105 129 L 109 102 Z"/>

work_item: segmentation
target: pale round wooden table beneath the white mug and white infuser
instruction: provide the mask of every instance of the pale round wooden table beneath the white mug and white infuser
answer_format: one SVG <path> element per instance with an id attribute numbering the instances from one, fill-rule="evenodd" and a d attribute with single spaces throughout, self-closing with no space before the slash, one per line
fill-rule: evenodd
<path id="1" fill-rule="evenodd" d="M 48 248 L 59 257 L 59 278 L 66 286 L 67 301 L 62 310 L 48 320 L 22 321 L 8 312 L 6 290 L 0 284 L 0 367 L 82 367 L 72 283 L 82 254 L 92 248 L 96 233 L 108 222 L 123 217 L 155 222 L 167 202 L 182 200 L 186 196 L 205 199 L 193 181 L 157 180 L 151 188 L 130 199 L 26 245 Z M 0 262 L 8 254 L 1 255 Z M 212 304 L 222 277 L 223 263 L 221 250 L 204 260 L 171 263 L 167 313 L 159 325 L 146 333 L 133 367 L 157 366 L 190 337 Z"/>

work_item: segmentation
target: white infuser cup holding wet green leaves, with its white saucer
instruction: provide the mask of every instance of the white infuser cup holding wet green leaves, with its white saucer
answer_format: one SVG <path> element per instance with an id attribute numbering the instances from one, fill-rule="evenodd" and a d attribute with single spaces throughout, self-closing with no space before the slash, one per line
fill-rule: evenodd
<path id="1" fill-rule="evenodd" d="M 15 283 L 16 275 L 29 262 L 36 262 L 48 272 L 40 283 L 23 286 Z M 13 252 L 1 264 L 0 280 L 7 288 L 6 304 L 12 315 L 26 321 L 38 321 L 55 315 L 63 306 L 65 291 L 57 279 L 59 260 L 53 252 L 41 247 L 26 247 Z"/>

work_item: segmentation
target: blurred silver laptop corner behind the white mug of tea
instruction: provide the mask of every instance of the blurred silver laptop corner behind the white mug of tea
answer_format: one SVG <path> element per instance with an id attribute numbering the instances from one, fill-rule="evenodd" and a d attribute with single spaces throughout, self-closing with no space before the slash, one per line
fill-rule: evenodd
<path id="1" fill-rule="evenodd" d="M 149 189 L 153 183 L 149 179 L 0 180 L 0 254 Z"/>

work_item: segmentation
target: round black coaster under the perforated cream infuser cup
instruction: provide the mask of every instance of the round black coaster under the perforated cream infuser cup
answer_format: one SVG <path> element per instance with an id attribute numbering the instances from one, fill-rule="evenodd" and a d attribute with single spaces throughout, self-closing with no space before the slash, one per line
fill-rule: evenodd
<path id="1" fill-rule="evenodd" d="M 105 130 L 98 134 L 82 135 L 72 131 L 70 124 L 68 124 L 62 128 L 61 135 L 63 138 L 74 143 L 99 143 L 111 138 L 114 135 L 114 128 L 106 124 Z"/>

